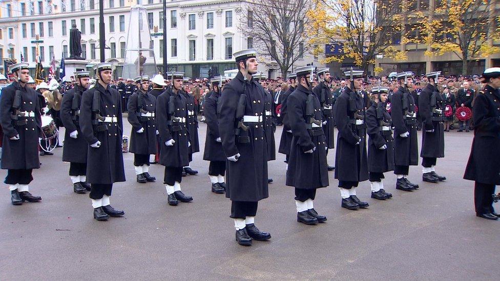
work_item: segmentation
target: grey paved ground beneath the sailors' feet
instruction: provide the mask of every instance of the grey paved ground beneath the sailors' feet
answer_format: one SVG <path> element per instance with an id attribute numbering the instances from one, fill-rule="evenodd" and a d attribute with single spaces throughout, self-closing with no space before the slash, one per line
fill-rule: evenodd
<path id="1" fill-rule="evenodd" d="M 203 123 L 199 135 L 203 147 Z M 281 127 L 277 145 L 280 136 Z M 446 158 L 438 160 L 446 182 L 423 183 L 421 167 L 414 166 L 410 179 L 421 188 L 404 192 L 387 173 L 386 190 L 394 195 L 388 201 L 370 199 L 369 182 L 361 183 L 366 210 L 340 207 L 330 172 L 330 187 L 315 201 L 328 221 L 317 226 L 296 222 L 294 191 L 284 186 L 284 156 L 278 155 L 269 163 L 275 183 L 256 218 L 273 238 L 252 247 L 235 242 L 230 200 L 210 192 L 201 153 L 192 163 L 200 174 L 182 182 L 194 201 L 177 207 L 166 204 L 162 166 L 150 169 L 156 183 L 138 184 L 133 155 L 124 154 L 128 181 L 114 186 L 111 203 L 126 216 L 97 222 L 88 194 L 73 193 L 69 164 L 56 149 L 40 158 L 30 185 L 42 202 L 12 206 L 9 192 L 0 194 L 0 280 L 498 280 L 500 222 L 475 217 L 473 183 L 462 179 L 471 140 L 472 133 L 446 134 Z M 332 151 L 329 163 L 334 159 Z"/>

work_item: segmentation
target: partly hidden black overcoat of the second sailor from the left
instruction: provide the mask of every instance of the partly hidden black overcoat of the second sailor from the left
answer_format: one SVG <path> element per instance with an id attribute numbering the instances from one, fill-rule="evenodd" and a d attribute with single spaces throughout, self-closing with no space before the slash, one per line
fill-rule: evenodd
<path id="1" fill-rule="evenodd" d="M 69 90 L 63 95 L 63 102 L 61 103 L 61 121 L 66 128 L 64 132 L 64 146 L 63 146 L 63 161 L 71 163 L 87 163 L 87 151 L 89 144 L 81 133 L 79 123 L 79 108 L 81 104 L 81 95 L 87 91 L 79 85 Z M 78 109 L 72 109 L 73 99 L 78 103 Z M 75 120 L 73 120 L 75 118 Z M 71 132 L 78 132 L 76 139 L 70 137 Z"/>

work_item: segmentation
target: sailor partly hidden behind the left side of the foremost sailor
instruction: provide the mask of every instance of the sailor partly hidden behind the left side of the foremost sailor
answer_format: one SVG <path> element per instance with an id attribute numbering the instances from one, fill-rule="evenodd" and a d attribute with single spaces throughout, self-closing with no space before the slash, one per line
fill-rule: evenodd
<path id="1" fill-rule="evenodd" d="M 212 183 L 212 192 L 222 194 L 225 192 L 226 184 L 224 175 L 226 172 L 226 156 L 222 150 L 222 140 L 219 134 L 219 110 L 220 89 L 225 83 L 225 77 L 217 76 L 210 80 L 212 83 L 212 94 L 205 99 L 203 114 L 206 121 L 205 148 L 203 160 L 210 161 L 209 178 Z"/>

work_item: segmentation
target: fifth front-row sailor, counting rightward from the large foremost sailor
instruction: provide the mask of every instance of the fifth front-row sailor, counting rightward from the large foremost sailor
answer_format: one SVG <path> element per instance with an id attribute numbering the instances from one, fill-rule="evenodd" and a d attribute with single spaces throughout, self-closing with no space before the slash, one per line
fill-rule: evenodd
<path id="1" fill-rule="evenodd" d="M 394 174 L 397 178 L 396 189 L 404 191 L 419 188 L 418 184 L 413 184 L 407 179 L 410 165 L 419 164 L 415 101 L 407 88 L 407 83 L 412 80 L 412 75 L 413 73 L 409 71 L 396 74 L 399 88 L 391 97 L 391 117 L 394 126 Z"/>

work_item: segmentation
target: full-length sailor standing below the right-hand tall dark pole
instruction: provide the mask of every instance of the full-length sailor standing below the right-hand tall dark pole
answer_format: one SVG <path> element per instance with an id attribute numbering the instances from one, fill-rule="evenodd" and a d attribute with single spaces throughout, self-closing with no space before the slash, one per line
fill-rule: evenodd
<path id="1" fill-rule="evenodd" d="M 168 203 L 177 206 L 180 202 L 191 202 L 180 188 L 183 167 L 189 164 L 188 101 L 182 95 L 183 72 L 168 72 L 172 87 L 156 100 L 156 119 L 161 138 L 160 164 L 165 166 L 163 182 Z"/>

